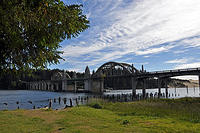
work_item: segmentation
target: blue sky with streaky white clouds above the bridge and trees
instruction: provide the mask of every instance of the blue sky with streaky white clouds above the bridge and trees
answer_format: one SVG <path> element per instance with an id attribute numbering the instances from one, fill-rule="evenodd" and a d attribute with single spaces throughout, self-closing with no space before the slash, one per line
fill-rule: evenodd
<path id="1" fill-rule="evenodd" d="M 147 71 L 200 67 L 200 0 L 63 0 L 82 4 L 90 28 L 60 43 L 59 68 L 84 72 L 108 61 Z"/>

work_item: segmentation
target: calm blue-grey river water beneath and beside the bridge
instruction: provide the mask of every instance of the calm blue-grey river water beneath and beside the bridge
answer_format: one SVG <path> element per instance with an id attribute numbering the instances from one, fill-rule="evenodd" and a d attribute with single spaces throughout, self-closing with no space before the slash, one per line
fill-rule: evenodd
<path id="1" fill-rule="evenodd" d="M 112 90 L 110 92 L 105 92 L 104 95 L 113 95 L 113 94 L 130 94 L 132 90 Z M 147 93 L 155 94 L 158 92 L 158 89 L 147 89 Z M 161 89 L 162 93 L 165 93 L 165 89 Z M 188 94 L 186 88 L 169 88 L 168 92 L 170 94 L 170 98 L 181 98 L 181 97 L 200 97 L 199 88 L 189 88 Z M 141 94 L 142 90 L 137 90 L 136 93 Z M 176 94 L 176 96 L 175 96 Z M 0 110 L 8 109 L 14 110 L 18 106 L 22 109 L 32 109 L 33 106 L 36 108 L 41 108 L 47 106 L 49 101 L 48 99 L 58 99 L 67 98 L 67 105 L 69 105 L 69 99 L 75 99 L 80 97 L 91 96 L 89 93 L 70 93 L 70 92 L 48 92 L 48 91 L 31 91 L 31 90 L 0 90 Z M 16 102 L 19 104 L 16 104 Z M 30 101 L 32 103 L 30 103 Z M 4 103 L 7 103 L 5 105 Z M 63 101 L 61 104 L 53 102 L 53 109 L 64 108 L 65 105 Z"/>

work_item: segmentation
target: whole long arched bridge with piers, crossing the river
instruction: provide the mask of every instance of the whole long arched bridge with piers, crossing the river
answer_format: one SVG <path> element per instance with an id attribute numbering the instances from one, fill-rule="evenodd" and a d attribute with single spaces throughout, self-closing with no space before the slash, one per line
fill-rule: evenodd
<path id="1" fill-rule="evenodd" d="M 168 79 L 174 76 L 197 75 L 200 79 L 200 68 L 176 69 L 147 72 L 143 66 L 141 70 L 127 63 L 107 62 L 101 65 L 96 72 L 90 73 L 89 67 L 85 69 L 84 78 L 71 78 L 67 73 L 56 73 L 49 81 L 36 81 L 27 83 L 27 89 L 49 91 L 74 91 L 82 89 L 92 93 L 102 93 L 104 89 L 132 89 L 136 96 L 138 84 L 142 84 L 143 96 L 146 95 L 147 85 L 150 80 L 156 80 L 158 96 L 164 84 L 168 93 Z M 82 84 L 82 88 L 78 86 Z M 200 87 L 200 80 L 199 80 Z"/>

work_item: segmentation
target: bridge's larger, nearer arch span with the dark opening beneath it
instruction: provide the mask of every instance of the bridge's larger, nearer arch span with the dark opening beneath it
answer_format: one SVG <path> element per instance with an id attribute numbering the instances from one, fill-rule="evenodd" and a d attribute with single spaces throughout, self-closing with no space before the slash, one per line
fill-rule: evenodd
<path id="1" fill-rule="evenodd" d="M 104 79 L 104 87 L 112 89 L 131 88 L 131 78 L 129 76 L 141 73 L 133 65 L 127 63 L 107 62 L 101 65 L 92 78 L 101 77 Z"/>

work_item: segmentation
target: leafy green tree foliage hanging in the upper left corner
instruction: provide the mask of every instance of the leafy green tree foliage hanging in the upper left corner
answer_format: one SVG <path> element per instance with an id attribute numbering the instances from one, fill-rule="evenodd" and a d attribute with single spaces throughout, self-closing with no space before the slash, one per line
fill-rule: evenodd
<path id="1" fill-rule="evenodd" d="M 60 0 L 1 0 L 0 71 L 59 63 L 59 43 L 89 27 L 81 7 Z"/>

